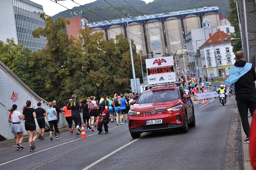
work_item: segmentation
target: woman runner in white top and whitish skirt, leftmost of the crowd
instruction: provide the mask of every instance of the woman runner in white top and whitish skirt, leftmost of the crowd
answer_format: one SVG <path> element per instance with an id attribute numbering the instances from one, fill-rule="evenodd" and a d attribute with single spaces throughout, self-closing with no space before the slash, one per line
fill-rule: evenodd
<path id="1" fill-rule="evenodd" d="M 8 122 L 12 123 L 11 125 L 11 133 L 15 135 L 16 143 L 17 143 L 17 151 L 23 149 L 24 147 L 21 145 L 23 140 L 23 128 L 20 124 L 20 119 L 22 119 L 22 115 L 19 111 L 17 111 L 17 105 L 13 104 L 12 109 L 9 110 L 10 115 Z"/>

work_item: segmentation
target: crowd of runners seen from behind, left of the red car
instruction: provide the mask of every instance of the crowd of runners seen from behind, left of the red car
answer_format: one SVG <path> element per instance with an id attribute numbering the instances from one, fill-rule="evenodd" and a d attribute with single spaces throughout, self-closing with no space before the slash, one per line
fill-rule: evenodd
<path id="1" fill-rule="evenodd" d="M 31 101 L 27 101 L 26 105 L 22 108 L 22 114 L 17 111 L 18 106 L 12 105 L 9 109 L 10 115 L 8 122 L 12 123 L 10 132 L 15 135 L 17 150 L 23 149 L 21 144 L 23 140 L 23 127 L 20 120 L 25 121 L 25 130 L 29 135 L 29 151 L 36 149 L 35 140 L 37 138 L 36 121 L 39 125 L 40 140 L 44 140 L 45 124 L 49 124 L 50 140 L 52 141 L 52 132 L 54 131 L 56 139 L 60 139 L 60 132 L 58 129 L 60 114 L 65 114 L 65 119 L 68 123 L 68 130 L 70 134 L 75 132 L 76 137 L 80 136 L 82 132 L 82 118 L 84 126 L 87 127 L 87 131 L 94 131 L 97 128 L 98 134 L 105 134 L 108 132 L 109 117 L 111 117 L 111 123 L 116 125 L 127 123 L 127 114 L 130 110 L 130 102 L 136 100 L 139 94 L 121 94 L 118 96 L 115 94 L 112 98 L 110 96 L 102 95 L 100 101 L 96 100 L 95 96 L 91 96 L 88 99 L 82 101 L 76 100 L 76 95 L 72 95 L 71 99 L 65 102 L 65 106 L 60 109 L 56 104 L 56 101 L 49 103 L 49 109 L 45 111 L 41 108 L 42 103 L 37 103 L 37 108 L 31 108 Z M 81 118 L 80 112 L 83 116 Z M 45 118 L 46 117 L 46 122 Z M 36 119 L 36 121 L 35 121 Z M 73 129 L 73 121 L 75 127 Z M 123 122 L 124 121 L 124 122 Z M 104 126 L 104 130 L 102 127 Z M 54 130 L 53 130 L 54 128 Z"/>

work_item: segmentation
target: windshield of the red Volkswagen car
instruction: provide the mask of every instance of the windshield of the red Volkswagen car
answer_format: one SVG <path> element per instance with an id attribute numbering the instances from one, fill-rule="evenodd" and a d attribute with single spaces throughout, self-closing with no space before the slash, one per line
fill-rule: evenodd
<path id="1" fill-rule="evenodd" d="M 179 98 L 178 89 L 168 89 L 168 90 L 153 90 L 143 92 L 138 99 L 137 104 L 142 103 L 153 103 L 153 102 L 163 102 L 168 100 L 175 100 Z"/>

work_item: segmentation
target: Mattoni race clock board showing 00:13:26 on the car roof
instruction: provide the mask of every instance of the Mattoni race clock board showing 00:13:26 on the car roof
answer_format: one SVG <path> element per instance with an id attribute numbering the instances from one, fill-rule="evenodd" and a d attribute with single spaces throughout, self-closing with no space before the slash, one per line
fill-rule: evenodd
<path id="1" fill-rule="evenodd" d="M 176 82 L 173 56 L 146 59 L 148 84 Z"/>

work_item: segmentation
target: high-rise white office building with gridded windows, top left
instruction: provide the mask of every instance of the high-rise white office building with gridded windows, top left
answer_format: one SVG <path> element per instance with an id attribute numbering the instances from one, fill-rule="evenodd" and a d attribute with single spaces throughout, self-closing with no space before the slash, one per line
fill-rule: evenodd
<path id="1" fill-rule="evenodd" d="M 43 6 L 29 0 L 0 0 L 0 40 L 14 39 L 16 44 L 23 44 L 32 52 L 45 47 L 45 37 L 35 38 L 32 32 L 45 27 L 40 18 Z"/>

